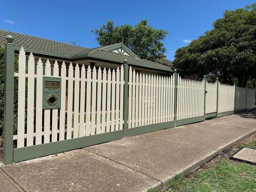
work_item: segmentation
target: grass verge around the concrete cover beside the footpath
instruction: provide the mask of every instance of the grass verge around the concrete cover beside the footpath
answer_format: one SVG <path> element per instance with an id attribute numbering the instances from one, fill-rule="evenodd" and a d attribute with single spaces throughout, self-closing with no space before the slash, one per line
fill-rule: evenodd
<path id="1" fill-rule="evenodd" d="M 216 156 L 187 176 L 176 176 L 167 191 L 256 191 L 256 165 L 230 160 L 229 155 L 241 147 L 256 148 L 256 134 Z M 148 189 L 148 192 L 155 192 Z"/>

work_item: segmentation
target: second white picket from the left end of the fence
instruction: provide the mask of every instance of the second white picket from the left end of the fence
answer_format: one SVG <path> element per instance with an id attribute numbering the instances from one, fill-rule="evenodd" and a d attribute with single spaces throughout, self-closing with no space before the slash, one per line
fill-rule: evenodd
<path id="1" fill-rule="evenodd" d="M 32 52 L 28 61 L 28 113 L 27 113 L 27 147 L 34 144 L 34 96 L 35 96 L 35 58 Z M 31 117 L 31 118 L 30 118 Z"/>

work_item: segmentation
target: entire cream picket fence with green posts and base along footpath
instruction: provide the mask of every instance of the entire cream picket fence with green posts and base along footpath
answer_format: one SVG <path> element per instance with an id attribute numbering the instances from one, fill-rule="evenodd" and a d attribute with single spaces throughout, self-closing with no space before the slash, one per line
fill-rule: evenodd
<path id="1" fill-rule="evenodd" d="M 128 68 L 126 60 L 121 68 L 91 69 L 71 62 L 35 61 L 32 53 L 27 59 L 22 47 L 18 72 L 12 76 L 11 46 L 6 45 L 5 83 L 18 78 L 18 120 L 17 134 L 13 118 L 4 122 L 5 164 L 255 108 L 255 89 L 209 83 L 205 77 L 186 80 L 176 71 L 170 76 L 142 74 Z M 45 77 L 61 81 L 60 108 L 43 106 Z M 11 90 L 5 90 L 5 102 L 14 102 Z M 14 116 L 6 104 L 5 111 Z"/>

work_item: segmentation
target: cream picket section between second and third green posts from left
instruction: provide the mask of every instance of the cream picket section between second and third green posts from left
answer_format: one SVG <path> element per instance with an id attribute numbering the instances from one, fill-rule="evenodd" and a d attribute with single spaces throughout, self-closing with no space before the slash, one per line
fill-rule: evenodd
<path id="1" fill-rule="evenodd" d="M 138 74 L 129 69 L 128 128 L 174 120 L 174 76 Z"/>

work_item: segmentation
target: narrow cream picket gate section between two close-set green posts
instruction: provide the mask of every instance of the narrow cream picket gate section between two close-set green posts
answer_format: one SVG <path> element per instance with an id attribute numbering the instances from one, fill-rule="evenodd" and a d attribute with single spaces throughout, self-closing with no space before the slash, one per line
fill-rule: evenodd
<path id="1" fill-rule="evenodd" d="M 206 84 L 206 114 L 216 112 L 217 108 L 217 83 Z"/>

